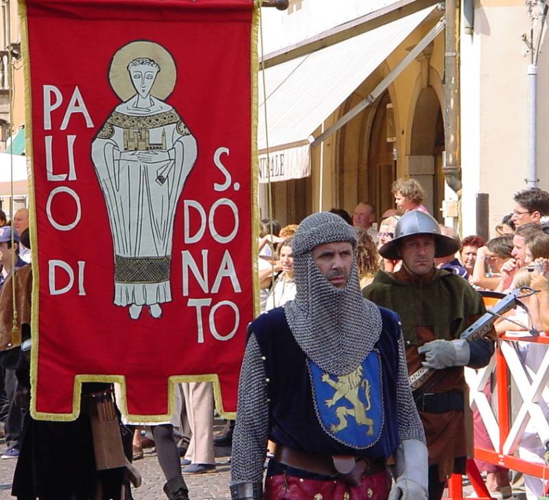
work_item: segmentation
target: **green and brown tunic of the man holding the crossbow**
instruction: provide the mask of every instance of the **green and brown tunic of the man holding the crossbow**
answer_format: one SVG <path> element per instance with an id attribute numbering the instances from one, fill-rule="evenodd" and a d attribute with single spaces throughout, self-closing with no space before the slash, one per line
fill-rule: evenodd
<path id="1" fill-rule="evenodd" d="M 410 373 L 421 363 L 414 346 L 434 339 L 458 339 L 485 312 L 482 297 L 463 277 L 440 269 L 421 277 L 404 269 L 395 274 L 379 271 L 362 293 L 366 299 L 394 310 L 401 317 Z M 430 393 L 467 391 L 463 367 L 438 372 L 436 382 L 428 381 L 425 388 L 419 389 L 420 394 L 425 389 Z M 465 457 L 472 452 L 472 433 L 465 424 L 464 411 L 419 411 L 419 416 L 425 429 L 429 465 L 438 466 L 439 480 L 445 481 L 452 473 L 465 473 Z"/>

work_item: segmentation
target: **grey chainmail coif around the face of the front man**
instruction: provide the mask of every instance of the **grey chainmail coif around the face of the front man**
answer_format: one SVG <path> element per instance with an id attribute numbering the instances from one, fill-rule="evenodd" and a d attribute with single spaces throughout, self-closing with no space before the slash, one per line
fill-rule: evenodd
<path id="1" fill-rule="evenodd" d="M 320 212 L 308 216 L 294 236 L 296 298 L 284 306 L 288 325 L 305 354 L 334 375 L 351 373 L 379 339 L 379 308 L 362 297 L 356 258 L 344 288 L 336 288 L 320 272 L 312 249 L 331 242 L 356 245 L 355 230 L 340 216 Z"/>

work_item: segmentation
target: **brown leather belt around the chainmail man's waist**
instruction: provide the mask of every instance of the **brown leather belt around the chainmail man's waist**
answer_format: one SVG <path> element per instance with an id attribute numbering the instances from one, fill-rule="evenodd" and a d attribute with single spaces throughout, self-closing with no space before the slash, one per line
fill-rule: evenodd
<path id="1" fill-rule="evenodd" d="M 355 460 L 355 457 L 349 457 Z M 334 460 L 327 455 L 313 455 L 305 453 L 288 446 L 277 444 L 274 449 L 274 459 L 290 467 L 307 470 L 309 473 L 320 474 L 323 476 L 335 477 L 338 470 L 334 466 Z M 372 475 L 384 470 L 385 462 L 382 460 L 372 462 L 366 458 L 358 458 L 358 462 L 363 468 L 363 475 Z"/>

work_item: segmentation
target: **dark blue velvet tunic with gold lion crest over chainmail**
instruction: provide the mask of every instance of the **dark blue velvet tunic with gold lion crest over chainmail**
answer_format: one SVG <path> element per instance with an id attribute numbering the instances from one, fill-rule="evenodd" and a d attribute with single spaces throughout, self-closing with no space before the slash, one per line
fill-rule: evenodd
<path id="1" fill-rule="evenodd" d="M 317 455 L 386 459 L 398 445 L 398 316 L 384 308 L 379 340 L 348 376 L 326 374 L 294 339 L 283 308 L 252 323 L 264 356 L 270 440 Z M 334 333 L 336 334 L 336 333 Z"/>

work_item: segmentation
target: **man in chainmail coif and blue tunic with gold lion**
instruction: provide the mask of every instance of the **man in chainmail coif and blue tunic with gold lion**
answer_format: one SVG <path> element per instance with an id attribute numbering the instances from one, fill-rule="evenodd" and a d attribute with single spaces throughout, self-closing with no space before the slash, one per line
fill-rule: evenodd
<path id="1" fill-rule="evenodd" d="M 355 245 L 353 227 L 335 214 L 305 218 L 292 244 L 296 298 L 251 323 L 235 500 L 427 499 L 399 318 L 362 297 Z M 277 446 L 263 487 L 268 439 Z"/>

